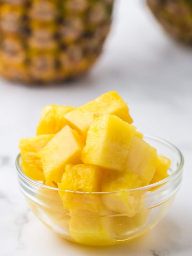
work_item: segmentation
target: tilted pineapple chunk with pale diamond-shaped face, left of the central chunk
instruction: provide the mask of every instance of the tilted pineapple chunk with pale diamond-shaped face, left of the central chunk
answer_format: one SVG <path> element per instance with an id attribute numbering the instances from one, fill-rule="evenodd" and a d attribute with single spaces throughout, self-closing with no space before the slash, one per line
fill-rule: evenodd
<path id="1" fill-rule="evenodd" d="M 46 180 L 60 182 L 65 164 L 81 163 L 83 138 L 68 125 L 60 130 L 47 145 L 38 152 Z"/>

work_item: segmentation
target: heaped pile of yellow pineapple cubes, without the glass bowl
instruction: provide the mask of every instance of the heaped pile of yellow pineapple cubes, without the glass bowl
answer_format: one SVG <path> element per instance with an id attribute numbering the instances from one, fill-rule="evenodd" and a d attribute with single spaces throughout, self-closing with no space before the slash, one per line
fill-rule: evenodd
<path id="1" fill-rule="evenodd" d="M 20 140 L 22 171 L 33 180 L 58 187 L 70 213 L 83 216 L 82 212 L 110 211 L 134 216 L 140 211 L 141 196 L 125 191 L 166 178 L 171 163 L 157 155 L 132 122 L 129 108 L 117 92 L 107 92 L 77 108 L 45 106 L 36 137 Z M 65 190 L 88 192 L 89 196 Z M 93 193 L 112 191 L 120 192 Z M 105 240 L 102 227 L 106 223 L 98 223 L 94 217 L 87 225 L 87 218 L 76 218 L 71 218 L 70 235 L 77 242 L 98 239 L 87 237 L 87 230 L 83 238 L 77 236 L 83 228 L 95 230 Z"/>

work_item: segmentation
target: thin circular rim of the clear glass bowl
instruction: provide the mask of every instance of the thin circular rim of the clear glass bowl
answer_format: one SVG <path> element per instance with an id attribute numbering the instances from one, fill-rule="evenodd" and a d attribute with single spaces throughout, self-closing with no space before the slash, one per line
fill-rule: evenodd
<path id="1" fill-rule="evenodd" d="M 155 140 L 155 141 L 161 142 L 161 143 L 165 144 L 166 146 L 168 146 L 169 148 L 172 148 L 175 151 L 177 151 L 177 153 L 180 156 L 180 164 L 177 167 L 176 171 L 173 172 L 171 175 L 169 175 L 167 178 L 165 178 L 163 180 L 160 180 L 158 182 L 155 182 L 153 184 L 140 187 L 140 188 L 133 188 L 133 189 L 127 189 L 127 190 L 119 190 L 119 191 L 107 191 L 107 192 L 91 192 L 91 193 L 90 192 L 82 192 L 82 191 L 61 190 L 59 188 L 53 188 L 53 187 L 47 186 L 47 185 L 45 185 L 43 183 L 40 183 L 38 181 L 32 180 L 24 172 L 22 172 L 22 170 L 20 168 L 20 158 L 21 158 L 20 154 L 18 154 L 18 156 L 16 157 L 16 162 L 15 162 L 16 169 L 17 169 L 18 175 L 22 179 L 26 180 L 28 183 L 30 183 L 32 185 L 35 185 L 36 187 L 51 189 L 51 190 L 54 190 L 54 191 L 62 191 L 62 192 L 77 193 L 77 194 L 111 194 L 111 193 L 118 193 L 118 192 L 122 192 L 122 191 L 123 192 L 129 192 L 129 191 L 138 191 L 138 190 L 149 190 L 151 188 L 158 187 L 158 186 L 160 186 L 160 185 L 162 185 L 164 183 L 167 183 L 170 180 L 173 180 L 180 172 L 182 172 L 182 168 L 183 168 L 183 165 L 184 165 L 184 156 L 181 153 L 181 151 L 179 150 L 179 148 L 177 148 L 175 145 L 173 145 L 168 140 L 164 140 L 164 139 L 162 139 L 162 138 L 160 138 L 158 136 L 154 136 L 154 135 L 150 135 L 150 134 L 144 134 L 143 138 L 151 139 L 151 140 Z"/>

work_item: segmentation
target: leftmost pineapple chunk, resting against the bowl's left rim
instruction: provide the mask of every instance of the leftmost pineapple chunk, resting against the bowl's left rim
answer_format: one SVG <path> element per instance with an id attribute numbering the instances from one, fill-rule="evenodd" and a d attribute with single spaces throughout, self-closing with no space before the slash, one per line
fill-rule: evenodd
<path id="1" fill-rule="evenodd" d="M 53 134 L 49 134 L 20 140 L 22 171 L 32 180 L 45 180 L 43 166 L 37 157 L 37 152 L 44 148 L 53 137 Z"/>

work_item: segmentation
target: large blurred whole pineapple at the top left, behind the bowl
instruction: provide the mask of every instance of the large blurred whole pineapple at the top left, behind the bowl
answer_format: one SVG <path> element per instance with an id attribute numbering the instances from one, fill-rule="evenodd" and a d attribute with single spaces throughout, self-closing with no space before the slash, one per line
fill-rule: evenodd
<path id="1" fill-rule="evenodd" d="M 0 74 L 50 83 L 83 74 L 100 55 L 113 0 L 0 0 Z"/>

